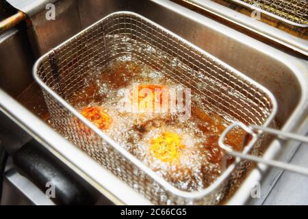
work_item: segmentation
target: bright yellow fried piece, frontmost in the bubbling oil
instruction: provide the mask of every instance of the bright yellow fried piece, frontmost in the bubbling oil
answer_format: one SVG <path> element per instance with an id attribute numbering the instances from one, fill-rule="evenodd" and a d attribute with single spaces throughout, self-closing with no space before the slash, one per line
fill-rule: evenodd
<path id="1" fill-rule="evenodd" d="M 174 163 L 179 160 L 181 150 L 185 149 L 181 136 L 170 131 L 151 140 L 150 153 L 162 162 Z"/>

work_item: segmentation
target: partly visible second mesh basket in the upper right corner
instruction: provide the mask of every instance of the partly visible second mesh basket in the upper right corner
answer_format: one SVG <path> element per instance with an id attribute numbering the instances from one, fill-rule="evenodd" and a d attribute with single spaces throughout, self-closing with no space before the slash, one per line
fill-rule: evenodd
<path id="1" fill-rule="evenodd" d="M 307 0 L 231 0 L 296 27 L 308 27 Z"/>

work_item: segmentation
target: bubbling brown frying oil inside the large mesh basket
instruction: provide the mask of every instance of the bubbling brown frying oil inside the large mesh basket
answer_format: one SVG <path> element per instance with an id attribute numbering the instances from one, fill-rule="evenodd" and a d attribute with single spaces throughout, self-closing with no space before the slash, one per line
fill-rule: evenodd
<path id="1" fill-rule="evenodd" d="M 179 112 L 127 112 L 119 103 L 133 83 L 182 88 L 141 62 L 118 60 L 86 80 L 86 88 L 75 92 L 70 104 L 79 112 L 86 107 L 103 109 L 110 116 L 110 125 L 102 131 L 175 187 L 184 191 L 207 188 L 224 170 L 224 152 L 218 146 L 218 138 L 229 122 L 201 110 L 199 96 L 192 96 L 192 114 L 187 120 L 181 119 Z M 233 131 L 227 136 L 227 143 L 240 150 L 243 136 L 242 131 Z M 169 143 L 160 147 L 166 138 Z M 170 149 L 175 149 L 175 153 L 169 155 L 166 150 Z M 159 150 L 163 155 L 155 154 Z M 166 154 L 168 158 L 159 157 Z"/>

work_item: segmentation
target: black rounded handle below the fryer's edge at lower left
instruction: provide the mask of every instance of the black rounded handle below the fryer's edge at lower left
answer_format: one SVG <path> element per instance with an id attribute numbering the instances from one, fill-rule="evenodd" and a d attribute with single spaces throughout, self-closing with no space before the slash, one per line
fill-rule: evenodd
<path id="1" fill-rule="evenodd" d="M 18 172 L 38 186 L 42 192 L 53 186 L 55 196 L 50 198 L 57 205 L 94 204 L 92 192 L 73 177 L 64 164 L 45 153 L 36 140 L 31 140 L 16 152 L 13 162 Z"/>

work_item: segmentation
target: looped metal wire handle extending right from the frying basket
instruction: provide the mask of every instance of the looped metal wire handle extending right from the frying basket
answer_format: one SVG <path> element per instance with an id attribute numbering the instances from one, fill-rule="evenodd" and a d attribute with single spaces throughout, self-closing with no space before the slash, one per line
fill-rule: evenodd
<path id="1" fill-rule="evenodd" d="M 241 127 L 242 129 L 244 129 L 244 131 L 246 131 L 247 133 L 249 133 L 252 136 L 252 140 L 250 142 L 248 142 L 248 144 L 246 144 L 246 146 L 244 147 L 244 150 L 242 152 L 238 152 L 238 151 L 234 151 L 231 146 L 224 144 L 224 139 L 226 138 L 227 134 L 229 133 L 229 131 L 231 131 L 231 129 L 234 129 L 235 127 Z M 240 122 L 236 122 L 233 123 L 231 125 L 229 125 L 229 127 L 227 127 L 227 129 L 225 129 L 222 134 L 220 135 L 220 138 L 218 140 L 218 144 L 219 146 L 224 149 L 229 155 L 233 156 L 233 157 L 240 157 L 242 159 L 248 159 L 251 160 L 253 162 L 257 162 L 257 163 L 262 163 L 262 164 L 266 164 L 269 166 L 274 166 L 277 168 L 281 168 L 283 170 L 289 170 L 292 172 L 297 172 L 300 173 L 302 175 L 307 175 L 308 176 L 308 168 L 304 168 L 302 166 L 297 166 L 294 164 L 287 164 L 285 162 L 279 162 L 277 160 L 273 160 L 273 159 L 265 159 L 263 157 L 257 157 L 254 155 L 249 155 L 248 152 L 251 151 L 251 149 L 253 148 L 253 144 L 255 144 L 255 142 L 257 141 L 257 138 L 259 136 L 259 133 L 256 133 L 255 131 L 259 131 L 259 133 L 261 133 L 261 131 L 264 131 L 266 133 L 270 133 L 274 136 L 277 136 L 277 138 L 279 139 L 291 139 L 291 140 L 297 140 L 299 142 L 305 142 L 308 143 L 308 138 L 305 136 L 300 136 L 297 135 L 295 133 L 286 133 L 284 131 L 279 131 L 276 129 L 270 129 L 270 128 L 266 128 L 266 127 L 259 127 L 259 126 L 255 126 L 255 125 L 251 125 L 250 127 L 244 125 L 243 123 Z"/>

